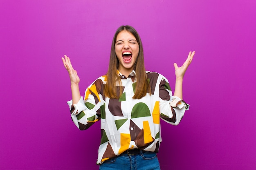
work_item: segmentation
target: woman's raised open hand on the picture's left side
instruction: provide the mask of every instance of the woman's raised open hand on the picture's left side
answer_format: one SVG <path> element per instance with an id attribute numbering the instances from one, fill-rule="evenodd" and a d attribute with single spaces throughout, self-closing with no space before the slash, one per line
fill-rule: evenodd
<path id="1" fill-rule="evenodd" d="M 65 57 L 65 58 L 64 58 Z M 64 67 L 66 68 L 68 74 L 70 75 L 70 82 L 71 85 L 78 85 L 80 82 L 80 78 L 77 75 L 77 72 L 72 67 L 72 64 L 70 62 L 70 58 L 67 57 L 67 55 L 64 55 L 64 57 L 61 57 Z"/>

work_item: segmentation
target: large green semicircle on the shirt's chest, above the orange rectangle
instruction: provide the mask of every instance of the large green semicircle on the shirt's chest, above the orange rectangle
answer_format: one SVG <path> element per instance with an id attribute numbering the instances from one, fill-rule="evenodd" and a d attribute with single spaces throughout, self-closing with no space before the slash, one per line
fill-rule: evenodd
<path id="1" fill-rule="evenodd" d="M 150 110 L 145 103 L 137 103 L 132 108 L 132 118 L 151 116 Z"/>

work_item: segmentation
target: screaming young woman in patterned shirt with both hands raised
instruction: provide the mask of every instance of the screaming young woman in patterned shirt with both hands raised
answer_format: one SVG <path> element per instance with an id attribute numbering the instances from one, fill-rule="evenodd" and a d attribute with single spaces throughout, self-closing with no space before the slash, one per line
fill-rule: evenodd
<path id="1" fill-rule="evenodd" d="M 141 39 L 131 26 L 120 26 L 113 38 L 108 73 L 79 92 L 79 77 L 70 58 L 63 64 L 70 75 L 74 124 L 88 129 L 101 120 L 101 144 L 97 164 L 100 170 L 159 170 L 156 153 L 162 141 L 160 117 L 180 123 L 189 105 L 182 99 L 184 73 L 195 52 L 181 67 L 174 63 L 176 83 L 172 95 L 168 80 L 145 71 Z"/>

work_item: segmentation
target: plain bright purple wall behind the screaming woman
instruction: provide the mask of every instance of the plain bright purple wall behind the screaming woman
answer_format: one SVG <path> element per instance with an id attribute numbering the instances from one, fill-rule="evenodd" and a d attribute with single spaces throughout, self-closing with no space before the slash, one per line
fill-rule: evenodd
<path id="1" fill-rule="evenodd" d="M 139 32 L 146 69 L 174 88 L 173 62 L 196 51 L 191 105 L 162 122 L 162 170 L 256 169 L 255 0 L 1 0 L 0 169 L 98 169 L 100 124 L 79 131 L 67 100 L 71 57 L 80 90 L 106 73 L 116 29 Z"/>

